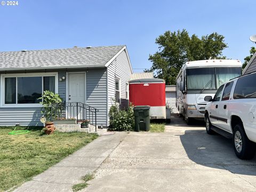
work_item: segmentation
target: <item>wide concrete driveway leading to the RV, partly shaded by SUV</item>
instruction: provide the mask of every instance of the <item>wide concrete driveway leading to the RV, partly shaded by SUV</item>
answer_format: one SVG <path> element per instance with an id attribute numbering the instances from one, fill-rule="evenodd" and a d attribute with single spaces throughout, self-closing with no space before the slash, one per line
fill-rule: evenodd
<path id="1" fill-rule="evenodd" d="M 176 117 L 165 133 L 126 133 L 83 191 L 256 191 L 255 165 L 231 140 Z"/>

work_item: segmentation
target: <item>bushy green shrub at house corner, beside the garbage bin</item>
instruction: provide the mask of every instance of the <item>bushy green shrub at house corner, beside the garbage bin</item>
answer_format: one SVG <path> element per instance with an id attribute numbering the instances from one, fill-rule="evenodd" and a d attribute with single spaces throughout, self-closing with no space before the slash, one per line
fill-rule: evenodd
<path id="1" fill-rule="evenodd" d="M 110 130 L 113 131 L 133 131 L 134 113 L 133 106 L 129 105 L 126 110 L 120 110 L 117 105 L 113 105 L 109 110 Z"/>

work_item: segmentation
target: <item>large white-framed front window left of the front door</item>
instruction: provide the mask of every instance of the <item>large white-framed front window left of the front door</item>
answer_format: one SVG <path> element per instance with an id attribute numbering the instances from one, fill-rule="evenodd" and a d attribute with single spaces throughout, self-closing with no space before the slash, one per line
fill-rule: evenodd
<path id="1" fill-rule="evenodd" d="M 44 75 L 4 75 L 3 104 L 36 104 L 45 90 L 55 93 L 57 77 L 54 74 Z"/>

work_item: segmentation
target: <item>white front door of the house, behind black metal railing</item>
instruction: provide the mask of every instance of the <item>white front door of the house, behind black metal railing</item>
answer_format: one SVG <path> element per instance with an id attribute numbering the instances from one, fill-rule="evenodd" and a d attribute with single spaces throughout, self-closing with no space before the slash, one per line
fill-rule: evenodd
<path id="1" fill-rule="evenodd" d="M 68 118 L 78 120 L 85 119 L 86 113 L 83 110 L 82 103 L 85 103 L 85 74 L 68 74 Z"/>

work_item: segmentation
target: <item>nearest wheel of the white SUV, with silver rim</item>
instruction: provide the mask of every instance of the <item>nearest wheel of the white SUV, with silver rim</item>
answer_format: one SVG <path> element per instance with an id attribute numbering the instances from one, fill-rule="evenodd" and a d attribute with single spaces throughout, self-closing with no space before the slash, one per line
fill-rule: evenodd
<path id="1" fill-rule="evenodd" d="M 234 127 L 233 146 L 238 158 L 251 159 L 255 154 L 255 143 L 247 138 L 241 124 Z"/>

